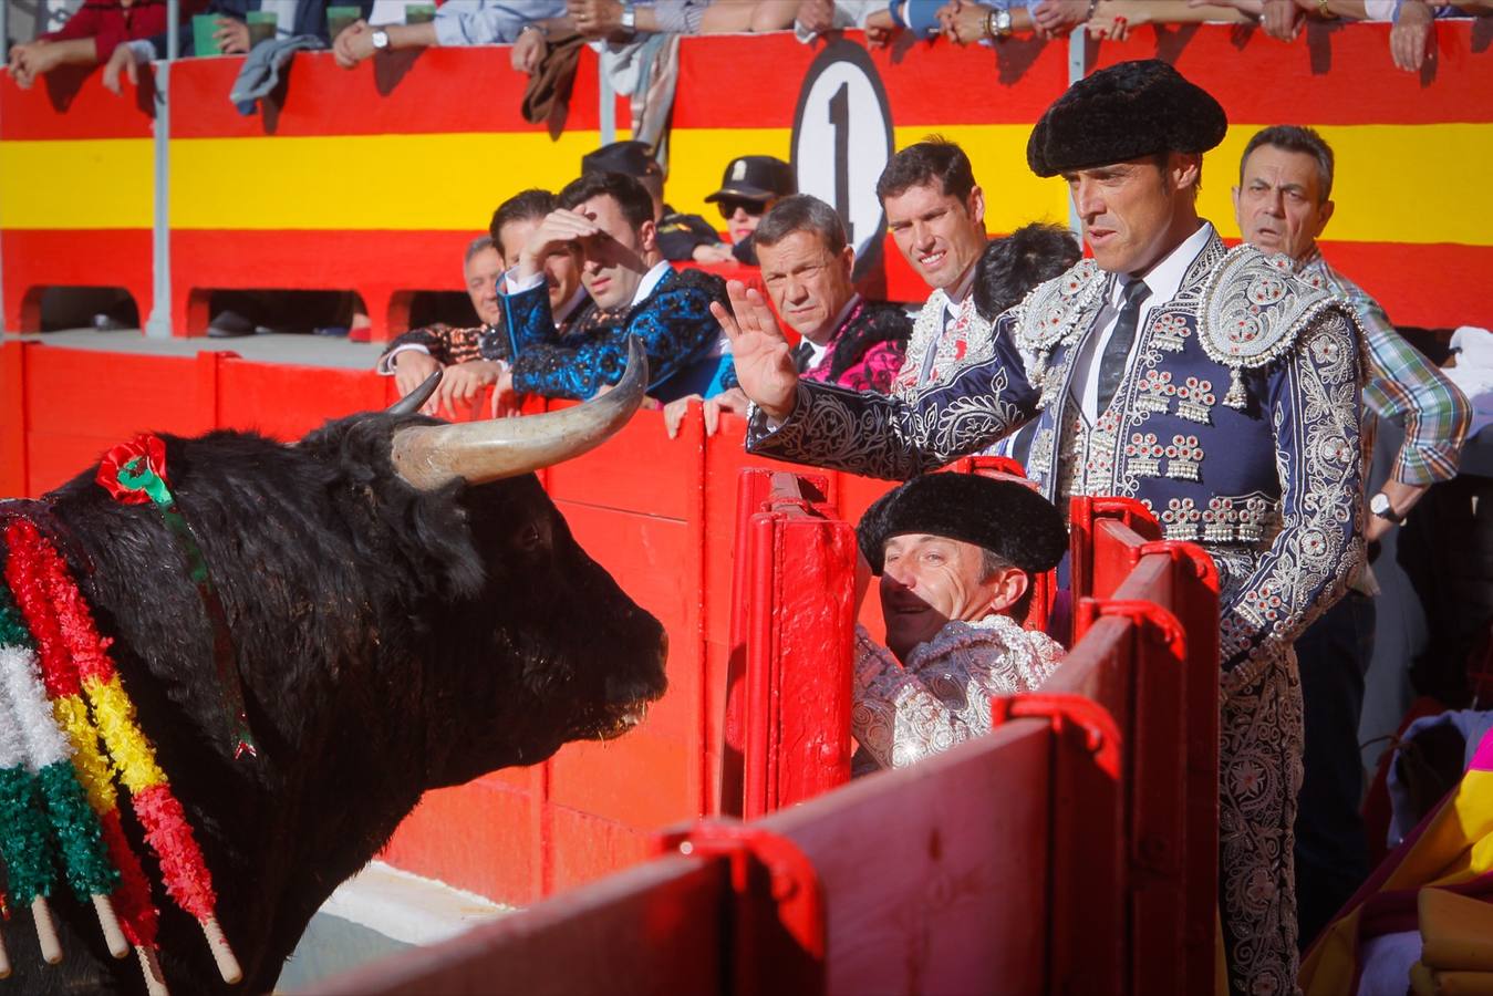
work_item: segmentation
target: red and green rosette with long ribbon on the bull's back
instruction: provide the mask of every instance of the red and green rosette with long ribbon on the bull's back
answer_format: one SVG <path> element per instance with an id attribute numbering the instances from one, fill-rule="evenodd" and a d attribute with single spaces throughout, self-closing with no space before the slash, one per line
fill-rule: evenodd
<path id="1" fill-rule="evenodd" d="M 119 443 L 99 461 L 94 481 L 122 505 L 154 503 L 161 514 L 176 548 L 187 561 L 188 575 L 197 585 L 197 597 L 202 600 L 203 612 L 212 626 L 212 657 L 218 669 L 218 694 L 222 711 L 233 729 L 233 757 L 239 759 L 243 754 L 257 757 L 258 748 L 254 744 L 249 717 L 243 708 L 243 684 L 239 679 L 237 654 L 228 633 L 228 617 L 222 609 L 222 599 L 218 597 L 218 590 L 212 584 L 202 547 L 197 544 L 191 526 L 176 508 L 176 497 L 166 479 L 166 443 L 149 435 Z"/>

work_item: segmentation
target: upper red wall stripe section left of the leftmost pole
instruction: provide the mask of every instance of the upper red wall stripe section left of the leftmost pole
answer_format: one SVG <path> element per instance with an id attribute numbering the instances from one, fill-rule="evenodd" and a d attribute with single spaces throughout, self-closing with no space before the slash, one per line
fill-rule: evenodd
<path id="1" fill-rule="evenodd" d="M 149 69 L 140 87 L 122 81 L 115 97 L 94 78 L 102 70 L 69 67 L 21 90 L 0 76 L 0 139 L 148 139 L 155 119 L 155 87 Z"/>

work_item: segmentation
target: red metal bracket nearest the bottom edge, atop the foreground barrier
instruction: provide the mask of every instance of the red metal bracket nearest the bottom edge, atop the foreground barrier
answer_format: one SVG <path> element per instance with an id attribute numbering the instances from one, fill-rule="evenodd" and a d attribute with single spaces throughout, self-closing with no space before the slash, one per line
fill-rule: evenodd
<path id="1" fill-rule="evenodd" d="M 736 894 L 736 974 L 738 993 L 787 990 L 815 993 L 824 990 L 826 911 L 824 887 L 814 863 L 785 836 L 749 823 L 702 820 L 682 830 L 664 830 L 654 838 L 657 853 L 678 853 L 703 859 L 723 859 L 730 869 Z M 767 896 L 758 891 L 766 877 Z M 776 930 L 758 929 L 752 914 L 761 900 L 775 911 Z M 785 932 L 791 948 L 772 947 L 775 935 Z M 767 947 L 770 950 L 763 950 Z"/>

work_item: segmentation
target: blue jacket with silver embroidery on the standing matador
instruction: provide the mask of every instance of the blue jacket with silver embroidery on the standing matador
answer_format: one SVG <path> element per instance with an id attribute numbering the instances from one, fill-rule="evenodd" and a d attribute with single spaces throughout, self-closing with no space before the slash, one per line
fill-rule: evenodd
<path id="1" fill-rule="evenodd" d="M 1360 370 L 1351 309 L 1290 260 L 1215 236 L 1138 333 L 1088 424 L 1073 361 L 1111 276 L 1084 260 L 994 327 L 990 360 L 908 399 L 799 384 L 788 421 L 755 412 L 752 452 L 905 479 L 1038 420 L 1027 472 L 1069 494 L 1138 499 L 1218 566 L 1226 669 L 1280 657 L 1363 558 Z M 1263 664 L 1262 664 L 1263 666 Z"/>

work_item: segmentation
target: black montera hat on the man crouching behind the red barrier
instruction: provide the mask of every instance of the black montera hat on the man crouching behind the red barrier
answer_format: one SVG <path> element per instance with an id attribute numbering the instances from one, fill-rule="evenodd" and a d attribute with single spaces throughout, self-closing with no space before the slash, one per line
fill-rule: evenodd
<path id="1" fill-rule="evenodd" d="M 860 553 L 881 573 L 887 541 L 927 533 L 975 544 L 1029 573 L 1051 570 L 1067 551 L 1053 503 L 1017 481 L 929 473 L 876 499 L 855 527 Z"/>

